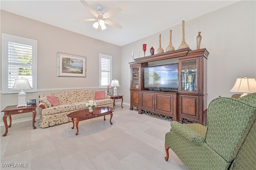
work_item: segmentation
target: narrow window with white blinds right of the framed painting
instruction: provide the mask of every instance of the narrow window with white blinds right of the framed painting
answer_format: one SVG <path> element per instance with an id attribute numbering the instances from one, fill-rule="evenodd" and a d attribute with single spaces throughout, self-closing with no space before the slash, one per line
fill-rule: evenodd
<path id="1" fill-rule="evenodd" d="M 107 88 L 112 80 L 112 56 L 99 53 L 99 88 Z"/>

